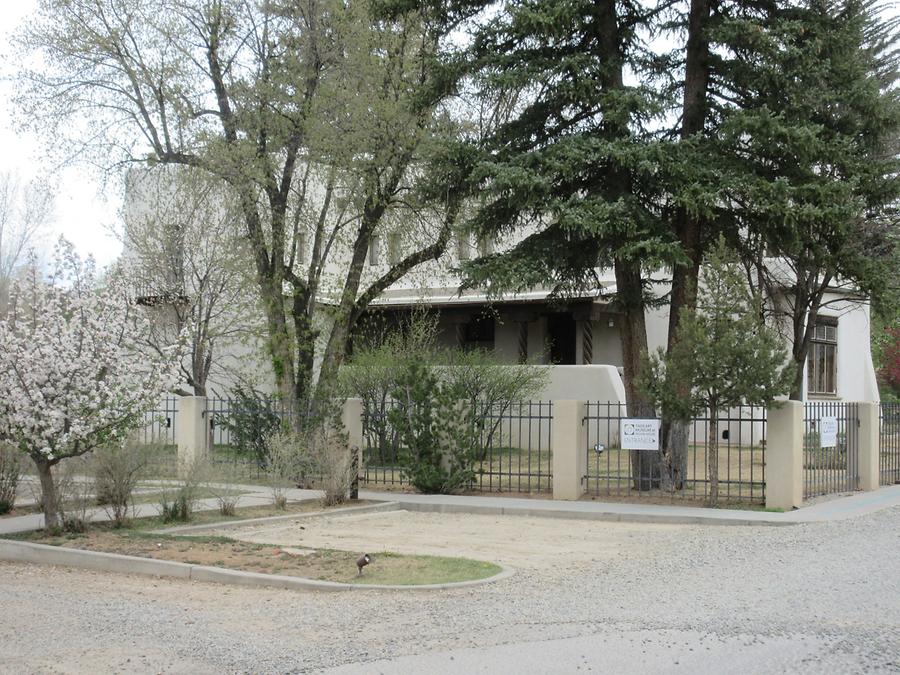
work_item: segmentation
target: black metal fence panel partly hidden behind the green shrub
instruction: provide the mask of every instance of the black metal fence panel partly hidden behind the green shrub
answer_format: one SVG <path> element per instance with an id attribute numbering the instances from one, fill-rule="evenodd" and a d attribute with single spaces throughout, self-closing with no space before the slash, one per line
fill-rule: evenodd
<path id="1" fill-rule="evenodd" d="M 397 403 L 366 406 L 363 411 L 363 467 L 360 479 L 369 486 L 409 485 L 403 466 L 404 448 L 390 423 Z M 476 424 L 476 492 L 549 493 L 553 490 L 550 450 L 553 408 L 550 401 L 494 405 L 471 416 Z"/>

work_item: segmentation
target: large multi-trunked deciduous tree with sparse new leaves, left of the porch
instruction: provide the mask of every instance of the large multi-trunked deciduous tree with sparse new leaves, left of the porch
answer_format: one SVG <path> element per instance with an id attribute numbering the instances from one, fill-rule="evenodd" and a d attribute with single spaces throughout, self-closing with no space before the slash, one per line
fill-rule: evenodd
<path id="1" fill-rule="evenodd" d="M 442 253 L 455 212 L 408 255 L 367 269 L 379 230 L 404 209 L 411 169 L 452 129 L 437 111 L 453 91 L 439 58 L 452 22 L 372 10 L 336 0 L 47 2 L 19 41 L 40 55 L 20 75 L 23 119 L 57 139 L 76 129 L 70 141 L 99 150 L 101 164 L 194 167 L 233 192 L 278 387 L 298 408 L 311 400 L 317 356 L 331 379 L 361 313 Z M 313 194 L 304 177 L 316 174 L 324 189 Z M 339 185 L 344 200 L 330 189 Z M 299 264 L 310 213 L 346 221 L 339 266 Z M 325 251 L 330 235 L 313 233 L 310 250 Z"/>

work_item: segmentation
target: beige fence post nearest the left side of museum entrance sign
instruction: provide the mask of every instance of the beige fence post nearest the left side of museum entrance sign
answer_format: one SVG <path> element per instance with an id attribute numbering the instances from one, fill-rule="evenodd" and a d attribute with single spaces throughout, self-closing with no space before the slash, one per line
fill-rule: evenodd
<path id="1" fill-rule="evenodd" d="M 579 499 L 587 473 L 587 427 L 584 401 L 554 401 L 550 450 L 553 453 L 553 498 Z"/>

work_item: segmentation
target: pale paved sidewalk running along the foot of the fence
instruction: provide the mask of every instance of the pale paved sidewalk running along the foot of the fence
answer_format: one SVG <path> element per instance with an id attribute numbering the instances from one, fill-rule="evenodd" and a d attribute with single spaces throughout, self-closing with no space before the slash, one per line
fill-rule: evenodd
<path id="1" fill-rule="evenodd" d="M 258 485 L 230 487 L 246 493 L 241 495 L 239 506 L 259 506 L 272 501 L 271 494 L 265 487 Z M 285 494 L 291 500 L 316 499 L 321 496 L 321 492 L 317 490 L 300 489 L 287 490 Z M 779 526 L 844 520 L 900 506 L 900 485 L 883 487 L 873 492 L 857 492 L 849 496 L 834 497 L 787 513 L 620 502 L 567 502 L 482 495 L 421 495 L 375 490 L 360 490 L 359 497 L 371 501 L 397 502 L 401 507 L 415 511 L 526 515 L 632 523 Z M 137 517 L 159 514 L 156 504 L 138 504 L 135 508 Z M 214 498 L 209 498 L 198 501 L 196 510 L 210 511 L 217 508 L 218 502 Z M 102 508 L 91 509 L 88 516 L 92 521 L 109 519 Z M 36 530 L 43 526 L 44 517 L 41 514 L 0 518 L 0 536 Z"/>

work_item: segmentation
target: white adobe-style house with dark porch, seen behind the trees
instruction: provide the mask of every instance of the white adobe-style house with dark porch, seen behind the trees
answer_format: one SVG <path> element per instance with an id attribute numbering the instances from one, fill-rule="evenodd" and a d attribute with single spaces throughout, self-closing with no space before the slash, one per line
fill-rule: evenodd
<path id="1" fill-rule="evenodd" d="M 132 184 L 143 185 L 145 189 L 130 191 L 126 197 L 126 214 L 146 211 L 147 205 L 142 203 L 146 195 L 152 194 L 154 199 L 159 200 L 160 195 L 166 192 L 165 182 L 171 180 L 164 176 L 162 188 L 159 184 L 154 184 L 154 189 L 147 190 L 146 177 L 132 174 L 129 178 Z M 413 245 L 416 236 L 413 229 L 416 226 L 393 221 L 385 227 L 386 231 L 379 233 L 369 249 L 364 277 L 374 279 L 384 273 Z M 489 299 L 484 292 L 478 290 L 460 292 L 460 279 L 452 270 L 461 260 L 487 254 L 494 247 L 502 249 L 511 243 L 498 241 L 490 245 L 485 242 L 476 244 L 465 237 L 457 237 L 439 261 L 416 268 L 384 292 L 370 307 L 363 323 L 368 319 L 382 321 L 390 326 L 399 323 L 414 309 L 428 308 L 438 313 L 439 339 L 448 347 L 490 350 L 499 360 L 511 364 L 610 366 L 608 370 L 613 372 L 611 375 L 604 375 L 608 386 L 603 388 L 611 400 L 624 400 L 621 381 L 609 382 L 610 378 L 616 379 L 615 371 L 621 375 L 622 367 L 620 317 L 611 303 L 616 292 L 611 270 L 597 271 L 596 288 L 586 289 L 580 295 L 565 299 L 554 298 L 550 288 L 533 288 L 525 293 L 510 294 L 499 299 Z M 298 265 L 307 263 L 308 248 L 304 241 Z M 339 249 L 329 265 L 334 271 L 339 271 L 346 264 L 347 257 L 346 251 Z M 128 251 L 125 258 L 130 260 L 130 264 L 139 264 Z M 178 260 L 180 256 L 172 258 Z M 180 272 L 176 272 L 172 276 L 178 278 L 179 274 Z M 660 287 L 657 292 L 663 293 L 665 290 Z M 171 289 L 167 292 L 173 293 Z M 179 292 L 181 291 L 178 289 L 174 291 L 176 296 Z M 147 293 L 148 297 L 156 298 L 151 292 Z M 323 290 L 322 304 L 330 304 L 336 293 L 334 289 L 330 293 L 327 289 Z M 648 311 L 647 333 L 651 351 L 666 343 L 667 314 L 665 307 Z M 263 352 L 261 346 L 248 351 L 246 341 L 241 346 L 235 345 L 230 349 L 240 351 L 239 355 L 236 354 L 237 358 L 231 359 L 232 362 L 246 361 L 253 351 L 260 354 Z M 257 371 L 260 366 L 267 367 L 265 357 L 254 360 L 253 367 Z M 574 372 L 565 369 L 554 374 L 550 385 L 552 391 L 547 392 L 547 397 L 576 397 L 574 393 L 566 395 L 567 382 L 574 382 Z M 229 388 L 230 378 L 227 375 L 211 374 L 210 378 L 214 390 L 222 392 Z M 591 381 L 593 380 L 588 378 L 585 382 Z M 807 399 L 878 399 L 869 348 L 869 307 L 866 303 L 851 299 L 839 289 L 828 294 L 817 321 L 804 381 L 804 398 Z M 587 386 L 585 382 L 577 388 Z M 595 396 L 590 398 L 597 400 Z"/>

